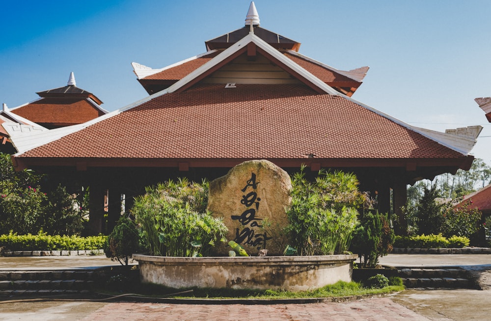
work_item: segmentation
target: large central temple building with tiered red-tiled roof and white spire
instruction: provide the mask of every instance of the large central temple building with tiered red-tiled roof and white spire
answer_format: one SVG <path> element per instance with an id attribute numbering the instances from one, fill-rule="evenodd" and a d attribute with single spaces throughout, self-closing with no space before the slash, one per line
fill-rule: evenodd
<path id="1" fill-rule="evenodd" d="M 161 69 L 133 63 L 145 99 L 29 141 L 13 139 L 15 166 L 90 186 L 98 233 L 107 190 L 110 225 L 121 195 L 128 208 L 145 186 L 214 179 L 252 159 L 289 173 L 305 165 L 311 177 L 321 168 L 353 172 L 379 211 L 397 213 L 404 228 L 407 184 L 472 164 L 482 127 L 436 132 L 353 99 L 368 67 L 341 71 L 302 55 L 300 42 L 260 26 L 253 2 L 244 27 L 205 45 L 206 52 Z"/>

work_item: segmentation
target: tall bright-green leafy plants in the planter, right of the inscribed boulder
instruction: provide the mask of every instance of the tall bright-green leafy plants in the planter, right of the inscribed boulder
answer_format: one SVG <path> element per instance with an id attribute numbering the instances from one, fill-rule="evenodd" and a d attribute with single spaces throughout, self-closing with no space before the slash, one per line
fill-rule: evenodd
<path id="1" fill-rule="evenodd" d="M 292 177 L 292 203 L 286 227 L 299 255 L 343 253 L 358 223 L 357 208 L 366 196 L 358 191 L 352 173 L 319 171 L 315 182 L 304 177 L 304 167 Z"/>

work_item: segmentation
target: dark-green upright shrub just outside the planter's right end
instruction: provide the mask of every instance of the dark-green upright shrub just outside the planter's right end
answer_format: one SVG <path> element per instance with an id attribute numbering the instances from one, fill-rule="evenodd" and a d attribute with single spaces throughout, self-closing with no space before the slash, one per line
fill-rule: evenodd
<path id="1" fill-rule="evenodd" d="M 394 238 L 387 214 L 367 212 L 355 230 L 351 250 L 363 258 L 362 268 L 375 268 L 379 257 L 392 250 Z"/>

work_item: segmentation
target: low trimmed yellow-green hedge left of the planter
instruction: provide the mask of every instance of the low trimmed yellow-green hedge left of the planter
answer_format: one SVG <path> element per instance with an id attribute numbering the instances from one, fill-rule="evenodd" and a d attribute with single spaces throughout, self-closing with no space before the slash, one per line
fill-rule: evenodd
<path id="1" fill-rule="evenodd" d="M 9 233 L 0 235 L 0 248 L 4 251 L 44 251 L 44 250 L 86 250 L 104 248 L 107 236 L 60 236 L 17 235 Z"/>

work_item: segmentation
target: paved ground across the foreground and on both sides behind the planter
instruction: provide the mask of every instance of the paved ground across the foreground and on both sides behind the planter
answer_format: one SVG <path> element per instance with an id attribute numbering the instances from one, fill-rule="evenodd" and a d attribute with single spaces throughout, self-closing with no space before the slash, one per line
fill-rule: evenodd
<path id="1" fill-rule="evenodd" d="M 392 254 L 382 264 L 393 266 L 491 266 L 489 254 Z M 60 269 L 113 265 L 103 256 L 0 258 L 0 270 Z M 17 298 L 10 298 L 10 300 Z M 87 301 L 0 301 L 0 320 L 245 320 L 263 321 L 469 321 L 490 320 L 491 290 L 407 290 L 351 302 L 201 305 Z"/>

